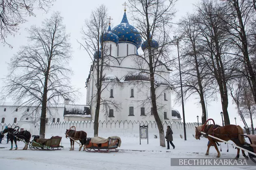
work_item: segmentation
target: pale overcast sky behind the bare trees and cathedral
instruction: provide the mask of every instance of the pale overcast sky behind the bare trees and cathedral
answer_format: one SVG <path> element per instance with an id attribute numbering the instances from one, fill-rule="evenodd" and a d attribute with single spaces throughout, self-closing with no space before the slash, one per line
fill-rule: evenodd
<path id="1" fill-rule="evenodd" d="M 93 1 L 93 2 L 92 2 Z M 53 11 L 60 11 L 61 16 L 64 18 L 64 24 L 66 26 L 66 32 L 71 34 L 70 43 L 72 44 L 73 60 L 70 62 L 70 66 L 74 71 L 74 76 L 72 77 L 72 85 L 80 88 L 80 92 L 83 96 L 77 101 L 77 104 L 86 104 L 86 88 L 85 81 L 89 74 L 89 69 L 91 66 L 91 59 L 86 53 L 86 51 L 80 49 L 79 44 L 76 40 L 80 40 L 81 38 L 81 28 L 84 26 L 84 20 L 88 19 L 91 10 L 95 9 L 100 4 L 105 4 L 108 8 L 108 14 L 113 18 L 111 27 L 113 28 L 117 24 L 121 22 L 121 19 L 124 14 L 124 4 L 125 0 L 56 0 L 54 2 L 52 8 L 48 13 L 43 13 L 42 11 L 35 11 L 36 17 L 28 17 L 28 22 L 20 25 L 20 32 L 15 37 L 7 38 L 7 42 L 13 45 L 13 49 L 10 49 L 8 46 L 0 45 L 0 79 L 4 78 L 8 72 L 7 70 L 7 62 L 10 61 L 10 58 L 13 54 L 17 53 L 18 49 L 22 45 L 26 45 L 27 33 L 25 28 L 29 28 L 31 25 L 40 26 L 41 22 L 45 18 L 49 18 Z M 174 18 L 174 22 L 177 22 L 180 17 L 185 15 L 186 13 L 193 12 L 193 4 L 195 4 L 197 0 L 178 0 L 176 3 L 176 17 Z M 128 3 L 128 1 L 127 1 Z M 132 21 L 130 20 L 129 8 L 127 8 L 127 17 L 129 23 L 132 25 Z M 141 51 L 141 50 L 140 50 Z M 177 55 L 174 51 L 173 55 Z M 2 86 L 2 81 L 0 81 L 0 86 Z M 174 97 L 172 97 L 174 98 Z M 208 106 L 208 118 L 212 118 L 215 120 L 216 124 L 222 125 L 221 121 L 221 102 L 215 101 L 209 103 Z M 182 106 L 172 106 L 177 109 L 182 116 Z M 232 100 L 230 98 L 228 105 L 228 112 L 230 117 L 230 123 L 235 124 L 234 117 L 237 117 L 236 120 L 238 125 L 244 126 L 240 121 L 239 115 L 237 115 L 237 111 L 235 106 L 232 105 Z M 186 122 L 197 122 L 196 116 L 198 115 L 200 118 L 202 116 L 202 109 L 199 105 L 199 101 L 191 98 L 187 102 L 185 102 L 184 107 L 185 113 L 185 121 Z M 199 121 L 201 121 L 199 119 Z M 256 121 L 254 121 L 256 123 Z M 247 120 L 247 125 L 250 126 L 250 121 Z M 256 125 L 256 124 L 255 124 Z"/>

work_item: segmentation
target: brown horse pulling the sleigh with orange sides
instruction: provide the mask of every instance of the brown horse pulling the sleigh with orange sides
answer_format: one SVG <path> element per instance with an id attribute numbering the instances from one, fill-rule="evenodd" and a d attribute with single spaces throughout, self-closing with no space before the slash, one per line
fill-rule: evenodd
<path id="1" fill-rule="evenodd" d="M 68 136 L 70 136 L 74 140 L 79 140 L 80 143 L 82 144 L 82 146 L 85 146 L 84 141 L 86 141 L 86 140 L 84 140 L 84 139 L 87 138 L 87 133 L 85 131 L 82 131 L 82 130 L 81 131 L 76 131 L 76 130 L 71 130 L 71 129 L 68 130 L 67 129 L 66 130 L 66 138 Z M 69 151 L 74 151 L 75 141 L 72 140 L 71 138 L 70 138 L 70 146 L 71 146 L 71 148 L 69 149 Z M 72 144 L 73 144 L 73 148 L 72 148 Z M 81 151 L 82 146 L 80 146 L 79 151 Z M 83 151 L 85 151 L 85 148 L 83 149 Z"/>

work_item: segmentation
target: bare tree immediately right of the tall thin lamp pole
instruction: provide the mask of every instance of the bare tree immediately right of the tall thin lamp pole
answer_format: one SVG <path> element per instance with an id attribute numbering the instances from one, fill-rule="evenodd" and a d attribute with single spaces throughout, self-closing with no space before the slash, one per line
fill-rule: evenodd
<path id="1" fill-rule="evenodd" d="M 213 96 L 213 88 L 211 87 L 212 80 L 208 76 L 208 67 L 204 64 L 204 58 L 202 57 L 202 47 L 200 40 L 202 38 L 200 30 L 197 29 L 195 15 L 187 15 L 182 18 L 178 23 L 177 32 L 180 34 L 181 39 L 181 74 L 182 74 L 182 87 L 184 100 L 187 100 L 193 94 L 199 96 L 199 103 L 202 107 L 202 123 L 206 122 L 206 104 L 205 95 Z M 178 69 L 178 64 L 174 63 Z M 174 72 L 172 76 L 172 84 L 176 87 L 174 91 L 176 93 L 176 102 L 181 100 L 180 90 L 180 73 Z M 212 94 L 210 94 L 212 93 Z"/>

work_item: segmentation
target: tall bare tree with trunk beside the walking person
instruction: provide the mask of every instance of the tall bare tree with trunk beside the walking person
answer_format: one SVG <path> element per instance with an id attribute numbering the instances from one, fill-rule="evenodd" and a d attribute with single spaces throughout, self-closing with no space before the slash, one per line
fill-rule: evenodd
<path id="1" fill-rule="evenodd" d="M 165 134 L 163 124 L 158 115 L 156 104 L 156 82 L 159 65 L 165 65 L 169 62 L 167 55 L 167 45 L 170 43 L 168 28 L 171 27 L 171 19 L 174 16 L 174 3 L 176 0 L 128 0 L 132 11 L 132 20 L 141 33 L 143 39 L 147 41 L 148 49 L 147 67 L 150 77 L 150 97 L 152 102 L 152 112 L 158 127 L 160 146 L 165 147 Z M 153 39 L 158 40 L 158 51 L 152 47 Z M 158 75 L 160 76 L 160 75 Z"/>

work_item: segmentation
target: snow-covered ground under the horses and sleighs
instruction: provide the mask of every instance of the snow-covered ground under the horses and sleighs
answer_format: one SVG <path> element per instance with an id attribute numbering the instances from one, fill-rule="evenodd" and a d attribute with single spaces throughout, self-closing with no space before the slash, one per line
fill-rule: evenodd
<path id="1" fill-rule="evenodd" d="M 52 134 L 49 134 L 50 136 Z M 255 170 L 256 166 L 171 166 L 170 158 L 215 158 L 217 155 L 214 147 L 210 148 L 210 154 L 205 155 L 207 149 L 206 138 L 195 140 L 192 135 L 184 138 L 174 138 L 175 149 L 167 150 L 159 147 L 159 139 L 150 138 L 149 144 L 147 140 L 139 138 L 120 136 L 122 143 L 119 152 L 113 153 L 88 153 L 85 151 L 78 151 L 79 145 L 75 143 L 75 150 L 69 151 L 69 139 L 63 136 L 61 145 L 64 149 L 59 151 L 32 151 L 30 149 L 24 151 L 23 142 L 18 142 L 18 150 L 9 151 L 11 146 L 2 141 L 0 147 L 0 170 L 17 169 L 17 170 L 71 170 L 71 169 L 88 169 L 88 170 Z M 54 136 L 55 136 L 54 135 Z M 110 135 L 111 136 L 111 135 Z M 48 137 L 48 136 L 47 136 Z M 107 138 L 108 136 L 102 136 Z M 220 147 L 219 147 L 220 149 Z M 227 145 L 221 143 L 221 158 L 234 158 L 236 156 L 236 149 L 229 145 L 229 152 L 227 152 Z M 132 151 L 139 150 L 139 151 Z M 241 155 L 241 153 L 240 153 Z M 246 153 L 247 155 L 247 153 Z M 243 156 L 240 156 L 243 158 Z"/>

